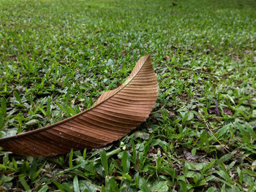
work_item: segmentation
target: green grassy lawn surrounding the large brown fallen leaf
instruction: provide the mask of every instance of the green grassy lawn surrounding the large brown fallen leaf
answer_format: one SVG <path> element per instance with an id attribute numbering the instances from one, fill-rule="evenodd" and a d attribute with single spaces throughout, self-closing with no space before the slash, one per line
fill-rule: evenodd
<path id="1" fill-rule="evenodd" d="M 152 53 L 159 80 L 146 123 L 113 145 L 53 158 L 0 152 L 0 191 L 256 191 L 255 9 L 0 0 L 1 137 L 86 110 L 141 55 Z"/>

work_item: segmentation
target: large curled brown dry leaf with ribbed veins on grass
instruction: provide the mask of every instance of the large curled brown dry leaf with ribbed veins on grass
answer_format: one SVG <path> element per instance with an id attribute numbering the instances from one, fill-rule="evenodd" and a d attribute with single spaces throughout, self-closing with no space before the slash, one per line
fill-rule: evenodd
<path id="1" fill-rule="evenodd" d="M 157 76 L 150 55 L 145 55 L 127 80 L 103 93 L 93 107 L 50 126 L 1 138 L 0 146 L 24 156 L 52 156 L 71 149 L 102 147 L 145 121 L 157 94 Z"/>

